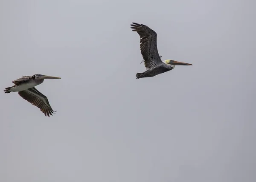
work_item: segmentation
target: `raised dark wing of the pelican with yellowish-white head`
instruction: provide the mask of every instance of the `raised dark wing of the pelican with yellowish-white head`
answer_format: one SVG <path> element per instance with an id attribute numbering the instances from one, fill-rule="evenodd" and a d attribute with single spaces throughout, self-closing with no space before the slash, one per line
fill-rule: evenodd
<path id="1" fill-rule="evenodd" d="M 145 60 L 145 67 L 164 64 L 157 51 L 157 33 L 148 26 L 138 23 L 131 24 L 131 28 L 140 35 L 140 52 Z"/>

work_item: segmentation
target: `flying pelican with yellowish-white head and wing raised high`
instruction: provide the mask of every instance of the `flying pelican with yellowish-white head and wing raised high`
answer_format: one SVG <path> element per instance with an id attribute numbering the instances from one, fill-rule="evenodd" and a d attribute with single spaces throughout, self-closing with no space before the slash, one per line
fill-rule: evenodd
<path id="1" fill-rule="evenodd" d="M 192 65 L 174 60 L 161 61 L 157 51 L 157 33 L 148 26 L 139 23 L 131 24 L 131 28 L 133 29 L 132 31 L 137 31 L 140 35 L 140 52 L 147 69 L 144 73 L 137 73 L 137 79 L 154 77 L 157 74 L 172 70 L 175 65 Z"/>

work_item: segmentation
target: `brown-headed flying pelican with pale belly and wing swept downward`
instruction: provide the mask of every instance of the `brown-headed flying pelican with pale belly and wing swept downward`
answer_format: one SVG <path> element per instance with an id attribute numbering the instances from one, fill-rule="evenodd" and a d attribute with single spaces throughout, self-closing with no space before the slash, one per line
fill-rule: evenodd
<path id="1" fill-rule="evenodd" d="M 7 87 L 4 93 L 18 92 L 20 97 L 30 102 L 31 104 L 40 108 L 45 116 L 49 117 L 49 114 L 56 112 L 52 110 L 48 99 L 45 95 L 35 89 L 36 85 L 40 85 L 44 82 L 44 79 L 61 79 L 60 77 L 51 77 L 42 74 L 35 74 L 33 76 L 23 76 L 17 80 L 12 81 L 14 85 Z"/>

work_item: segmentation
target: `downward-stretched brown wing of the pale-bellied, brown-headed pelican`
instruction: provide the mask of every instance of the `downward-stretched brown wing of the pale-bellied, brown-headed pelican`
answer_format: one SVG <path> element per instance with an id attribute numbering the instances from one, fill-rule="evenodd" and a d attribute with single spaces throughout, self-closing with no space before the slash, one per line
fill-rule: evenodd
<path id="1" fill-rule="evenodd" d="M 49 117 L 49 114 L 52 115 L 54 112 L 56 112 L 52 110 L 47 97 L 35 89 L 35 87 L 28 88 L 24 91 L 19 91 L 18 94 L 26 101 L 40 108 L 45 116 Z"/>

